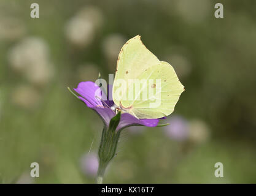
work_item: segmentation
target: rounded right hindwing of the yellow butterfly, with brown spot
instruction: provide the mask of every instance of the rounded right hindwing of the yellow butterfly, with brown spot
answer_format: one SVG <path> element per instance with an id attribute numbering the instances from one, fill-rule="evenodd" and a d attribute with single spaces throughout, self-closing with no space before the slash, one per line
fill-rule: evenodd
<path id="1" fill-rule="evenodd" d="M 144 78 L 147 78 L 144 87 L 146 96 L 142 90 L 129 103 L 132 105 L 131 112 L 138 118 L 161 118 L 173 113 L 180 94 L 184 91 L 173 67 L 168 62 L 160 61 L 160 64 L 150 67 L 139 76 L 139 80 L 143 81 Z"/>

